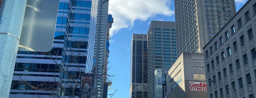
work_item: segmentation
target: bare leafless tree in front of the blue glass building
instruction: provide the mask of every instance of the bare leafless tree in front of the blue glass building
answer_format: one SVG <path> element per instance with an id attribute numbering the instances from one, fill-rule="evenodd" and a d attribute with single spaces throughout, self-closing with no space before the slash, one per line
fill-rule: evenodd
<path id="1" fill-rule="evenodd" d="M 27 84 L 31 90 L 47 91 L 53 98 L 59 98 L 60 96 L 66 96 L 68 98 L 92 98 L 93 95 L 97 95 L 97 90 L 103 90 L 103 88 L 92 87 L 92 81 L 100 77 L 100 75 L 93 74 L 94 70 L 97 69 L 92 65 L 86 66 L 85 64 L 82 64 L 84 63 L 84 61 L 81 61 L 84 60 L 82 57 L 85 56 L 82 56 L 83 54 L 81 52 L 71 51 L 69 55 L 69 63 L 65 64 L 60 64 L 58 62 L 58 51 L 40 53 L 40 55 L 45 55 L 46 58 L 51 59 L 56 64 L 56 69 L 51 70 L 59 72 L 59 75 L 54 75 L 54 78 L 52 79 L 34 84 L 33 82 L 26 81 L 23 77 L 24 73 L 21 73 L 23 75 L 20 75 L 20 81 L 16 82 L 16 84 Z M 114 76 L 108 75 L 107 70 L 105 70 L 102 75 L 108 77 Z M 94 91 L 92 91 L 92 89 Z M 113 94 L 108 95 L 112 96 Z M 40 97 L 40 95 L 37 96 Z"/>

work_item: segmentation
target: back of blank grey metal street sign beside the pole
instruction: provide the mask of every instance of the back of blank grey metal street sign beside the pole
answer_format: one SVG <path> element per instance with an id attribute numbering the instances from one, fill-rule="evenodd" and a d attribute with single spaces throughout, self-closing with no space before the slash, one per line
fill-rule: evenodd
<path id="1" fill-rule="evenodd" d="M 59 0 L 27 0 L 18 50 L 52 49 L 58 6 Z"/>

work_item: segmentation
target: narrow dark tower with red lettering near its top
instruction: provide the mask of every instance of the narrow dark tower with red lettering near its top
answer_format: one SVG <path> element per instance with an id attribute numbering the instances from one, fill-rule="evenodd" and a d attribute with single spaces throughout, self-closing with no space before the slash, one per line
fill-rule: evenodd
<path id="1" fill-rule="evenodd" d="M 133 34 L 131 41 L 130 98 L 148 98 L 147 35 Z"/>

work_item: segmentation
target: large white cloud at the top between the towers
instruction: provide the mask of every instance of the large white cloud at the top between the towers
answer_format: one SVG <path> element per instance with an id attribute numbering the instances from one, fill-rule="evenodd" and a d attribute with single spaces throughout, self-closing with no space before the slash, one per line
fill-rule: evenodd
<path id="1" fill-rule="evenodd" d="M 122 28 L 133 27 L 134 20 L 145 21 L 157 14 L 171 16 L 170 0 L 110 0 L 108 12 L 113 15 L 114 23 L 110 36 Z"/>

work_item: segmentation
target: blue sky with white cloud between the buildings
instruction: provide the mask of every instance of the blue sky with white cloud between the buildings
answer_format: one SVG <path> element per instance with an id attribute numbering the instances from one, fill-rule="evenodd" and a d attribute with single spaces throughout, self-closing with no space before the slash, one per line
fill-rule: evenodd
<path id="1" fill-rule="evenodd" d="M 238 11 L 247 0 L 235 0 Z M 151 20 L 175 22 L 174 0 L 110 0 L 108 13 L 114 23 L 110 29 L 108 74 L 114 75 L 108 98 L 130 98 L 130 53 L 133 34 L 147 34 Z"/>

